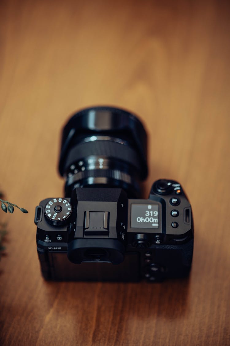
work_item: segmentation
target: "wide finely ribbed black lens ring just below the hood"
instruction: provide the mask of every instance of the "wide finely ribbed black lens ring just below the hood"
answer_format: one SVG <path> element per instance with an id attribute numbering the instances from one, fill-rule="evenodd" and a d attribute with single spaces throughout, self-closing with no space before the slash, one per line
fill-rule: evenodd
<path id="1" fill-rule="evenodd" d="M 96 140 L 74 146 L 67 156 L 64 171 L 66 171 L 72 163 L 93 155 L 116 158 L 132 164 L 141 171 L 140 159 L 132 148 L 117 142 L 108 142 L 107 140 Z"/>

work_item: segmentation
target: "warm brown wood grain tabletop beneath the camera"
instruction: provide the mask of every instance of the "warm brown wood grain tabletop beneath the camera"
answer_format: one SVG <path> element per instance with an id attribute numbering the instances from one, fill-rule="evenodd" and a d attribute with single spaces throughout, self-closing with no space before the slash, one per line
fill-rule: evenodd
<path id="1" fill-rule="evenodd" d="M 8 222 L 1 345 L 230 345 L 230 21 L 226 1 L 1 1 L 0 188 Z M 115 105 L 149 135 L 149 176 L 193 208 L 189 279 L 46 282 L 34 209 L 62 196 L 60 134 L 73 111 Z"/>

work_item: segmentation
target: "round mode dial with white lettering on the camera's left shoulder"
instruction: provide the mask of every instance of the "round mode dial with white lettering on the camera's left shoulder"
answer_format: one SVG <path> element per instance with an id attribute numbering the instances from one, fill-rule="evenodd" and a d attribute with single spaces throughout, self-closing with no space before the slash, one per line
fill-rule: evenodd
<path id="1" fill-rule="evenodd" d="M 53 226 L 67 224 L 71 211 L 71 204 L 64 198 L 52 198 L 44 209 L 47 222 Z"/>

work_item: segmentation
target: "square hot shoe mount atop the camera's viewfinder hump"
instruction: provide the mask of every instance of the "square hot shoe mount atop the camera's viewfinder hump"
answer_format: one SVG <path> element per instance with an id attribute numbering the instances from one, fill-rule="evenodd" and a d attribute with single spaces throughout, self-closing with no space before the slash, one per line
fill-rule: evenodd
<path id="1" fill-rule="evenodd" d="M 108 235 L 109 212 L 86 211 L 84 215 L 84 235 Z"/>

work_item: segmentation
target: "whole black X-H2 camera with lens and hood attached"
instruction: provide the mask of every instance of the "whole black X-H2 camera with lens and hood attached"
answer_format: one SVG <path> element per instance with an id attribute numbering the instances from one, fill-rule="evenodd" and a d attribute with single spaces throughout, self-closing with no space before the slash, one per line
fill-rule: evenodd
<path id="1" fill-rule="evenodd" d="M 93 107 L 63 129 L 64 198 L 36 207 L 37 251 L 47 280 L 162 281 L 188 275 L 193 219 L 179 182 L 160 179 L 141 198 L 147 135 L 128 111 Z"/>

